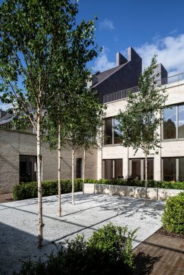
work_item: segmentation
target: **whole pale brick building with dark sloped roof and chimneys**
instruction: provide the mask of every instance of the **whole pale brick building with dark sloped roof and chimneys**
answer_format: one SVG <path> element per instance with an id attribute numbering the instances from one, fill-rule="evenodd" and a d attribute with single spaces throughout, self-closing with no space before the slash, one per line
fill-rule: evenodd
<path id="1" fill-rule="evenodd" d="M 121 145 L 114 129 L 119 109 L 126 105 L 127 91 L 138 91 L 142 72 L 141 57 L 130 47 L 127 58 L 116 54 L 116 67 L 92 76 L 91 87 L 99 91 L 101 102 L 106 104 L 105 133 L 109 138 L 102 150 L 86 154 L 85 177 L 113 179 L 117 177 L 145 178 L 145 160 L 141 151 L 134 155 L 132 148 Z M 159 64 L 158 81 L 166 88 L 167 105 L 163 125 L 159 128 L 161 148 L 158 155 L 148 158 L 148 178 L 155 180 L 184 180 L 184 74 L 167 77 L 167 71 Z M 15 130 L 10 114 L 0 111 L 0 193 L 12 191 L 21 181 L 37 180 L 36 135 L 32 128 Z M 32 133 L 31 133 L 32 132 Z M 43 179 L 57 179 L 57 151 L 50 151 L 43 144 Z M 71 148 L 62 149 L 61 177 L 71 178 Z M 75 158 L 75 177 L 82 175 L 83 151 Z"/>

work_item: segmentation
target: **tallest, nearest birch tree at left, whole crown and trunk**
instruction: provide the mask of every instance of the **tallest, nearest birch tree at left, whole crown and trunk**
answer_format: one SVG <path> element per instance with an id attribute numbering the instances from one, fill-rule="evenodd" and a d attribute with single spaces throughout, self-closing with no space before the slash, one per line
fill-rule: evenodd
<path id="1" fill-rule="evenodd" d="M 70 0 L 7 0 L 0 7 L 1 101 L 18 108 L 17 118 L 23 114 L 37 132 L 39 248 L 43 239 L 41 127 L 63 72 L 77 11 L 77 3 Z"/>

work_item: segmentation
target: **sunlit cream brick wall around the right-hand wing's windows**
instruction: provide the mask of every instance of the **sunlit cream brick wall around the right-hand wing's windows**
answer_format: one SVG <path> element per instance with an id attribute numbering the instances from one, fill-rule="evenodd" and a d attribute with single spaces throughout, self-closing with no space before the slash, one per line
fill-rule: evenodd
<path id="1" fill-rule="evenodd" d="M 168 95 L 166 104 L 184 104 L 184 83 L 172 83 L 166 86 L 166 94 Z M 106 117 L 112 117 L 119 113 L 119 110 L 125 110 L 127 104 L 126 99 L 116 100 L 114 102 L 107 103 L 107 109 L 105 110 Z M 161 127 L 158 129 L 161 134 Z M 184 138 L 182 140 L 161 142 L 161 148 L 156 150 L 158 155 L 150 155 L 149 157 L 154 157 L 154 179 L 161 180 L 161 158 L 162 157 L 184 157 Z M 152 152 L 154 153 L 154 152 Z M 139 150 L 136 155 L 134 155 L 134 150 L 132 148 L 123 148 L 121 145 L 108 145 L 103 147 L 102 153 L 98 153 L 98 159 L 123 159 L 123 176 L 128 175 L 128 159 L 129 158 L 143 158 L 143 152 Z M 99 160 L 100 162 L 100 160 Z M 102 162 L 103 163 L 103 162 Z M 99 168 L 97 170 L 98 178 L 103 175 L 100 173 Z"/>

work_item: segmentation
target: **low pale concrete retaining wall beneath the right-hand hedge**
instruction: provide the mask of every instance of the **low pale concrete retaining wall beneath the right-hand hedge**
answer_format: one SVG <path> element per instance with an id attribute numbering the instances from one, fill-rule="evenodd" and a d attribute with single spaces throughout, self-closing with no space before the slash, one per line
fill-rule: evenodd
<path id="1" fill-rule="evenodd" d="M 147 188 L 148 199 L 165 200 L 167 197 L 176 196 L 184 190 Z M 125 197 L 145 198 L 145 188 L 137 186 L 118 186 L 108 184 L 84 184 L 85 194 L 107 194 Z"/>

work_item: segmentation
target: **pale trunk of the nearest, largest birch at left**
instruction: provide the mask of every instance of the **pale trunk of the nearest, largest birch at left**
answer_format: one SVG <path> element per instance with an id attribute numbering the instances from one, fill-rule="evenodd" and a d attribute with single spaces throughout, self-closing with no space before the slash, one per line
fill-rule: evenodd
<path id="1" fill-rule="evenodd" d="M 37 248 L 41 248 L 43 241 L 43 217 L 42 217 L 42 186 L 41 186 L 41 131 L 40 116 L 37 118 L 37 170 L 38 170 L 38 243 Z"/>

